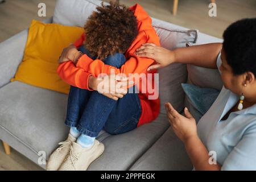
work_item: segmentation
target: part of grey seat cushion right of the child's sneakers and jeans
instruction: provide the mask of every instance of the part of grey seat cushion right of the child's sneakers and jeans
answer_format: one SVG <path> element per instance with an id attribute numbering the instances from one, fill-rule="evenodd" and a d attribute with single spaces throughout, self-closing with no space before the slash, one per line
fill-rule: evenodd
<path id="1" fill-rule="evenodd" d="M 89 170 L 128 170 L 158 140 L 169 127 L 166 114 L 155 121 L 121 135 L 102 140 L 104 154 L 90 165 Z"/>

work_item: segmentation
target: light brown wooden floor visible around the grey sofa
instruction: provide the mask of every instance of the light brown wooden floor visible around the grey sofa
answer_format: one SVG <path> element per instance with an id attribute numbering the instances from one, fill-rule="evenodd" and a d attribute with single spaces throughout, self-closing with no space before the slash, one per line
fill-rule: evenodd
<path id="1" fill-rule="evenodd" d="M 109 1 L 109 0 L 105 0 Z M 53 15 L 56 0 L 6 0 L 0 4 L 0 42 L 10 38 L 19 31 L 29 27 L 32 19 L 39 18 L 38 3 L 47 6 L 47 17 Z M 221 38 L 222 32 L 230 23 L 242 19 L 256 17 L 255 0 L 216 0 L 217 17 L 208 16 L 208 0 L 180 0 L 177 15 L 172 15 L 172 0 L 120 0 L 127 6 L 141 4 L 154 18 L 175 23 L 183 27 L 197 28 L 205 34 Z M 7 156 L 0 143 L 0 170 L 40 170 L 30 160 L 12 150 Z"/>

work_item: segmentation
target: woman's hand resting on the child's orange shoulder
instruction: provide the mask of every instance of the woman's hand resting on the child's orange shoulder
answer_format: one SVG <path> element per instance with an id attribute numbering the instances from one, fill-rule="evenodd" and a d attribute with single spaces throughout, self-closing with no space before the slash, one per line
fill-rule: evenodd
<path id="1" fill-rule="evenodd" d="M 135 52 L 140 57 L 148 57 L 154 59 L 158 64 L 151 65 L 147 68 L 147 71 L 151 69 L 158 69 L 166 67 L 167 65 L 175 62 L 175 53 L 166 48 L 156 46 L 152 43 L 142 44 L 140 48 Z"/>

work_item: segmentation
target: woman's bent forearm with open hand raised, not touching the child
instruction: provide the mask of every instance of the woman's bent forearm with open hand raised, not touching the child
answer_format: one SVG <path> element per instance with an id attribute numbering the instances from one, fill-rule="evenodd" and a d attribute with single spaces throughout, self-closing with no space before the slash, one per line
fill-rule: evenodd
<path id="1" fill-rule="evenodd" d="M 197 135 L 196 121 L 188 109 L 184 109 L 184 117 L 170 103 L 167 103 L 166 111 L 172 130 L 184 143 L 187 154 L 195 169 L 200 171 L 219 171 L 221 169 L 219 164 L 209 163 L 209 152 Z"/>

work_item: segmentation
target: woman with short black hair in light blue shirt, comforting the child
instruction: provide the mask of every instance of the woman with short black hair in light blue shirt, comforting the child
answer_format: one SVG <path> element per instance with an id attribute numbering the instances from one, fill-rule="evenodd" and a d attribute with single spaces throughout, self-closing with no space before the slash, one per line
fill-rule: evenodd
<path id="1" fill-rule="evenodd" d="M 136 54 L 172 63 L 218 68 L 224 87 L 196 126 L 185 108 L 185 117 L 170 103 L 168 120 L 185 145 L 196 170 L 256 169 L 256 19 L 243 19 L 224 32 L 224 43 L 204 44 L 174 51 L 147 43 Z M 216 64 L 217 60 L 217 64 Z M 210 154 L 216 154 L 212 157 Z M 213 164 L 210 158 L 217 160 Z"/>

